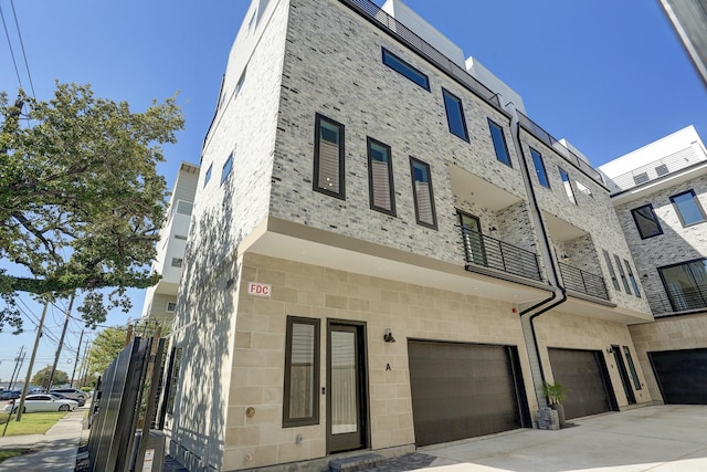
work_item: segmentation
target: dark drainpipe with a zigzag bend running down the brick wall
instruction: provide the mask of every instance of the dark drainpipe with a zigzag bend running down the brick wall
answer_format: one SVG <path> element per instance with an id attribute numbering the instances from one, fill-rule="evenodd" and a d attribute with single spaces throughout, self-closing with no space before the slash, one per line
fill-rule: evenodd
<path id="1" fill-rule="evenodd" d="M 548 272 L 548 279 L 550 279 L 549 283 L 552 287 L 552 294 L 548 298 L 541 300 L 540 302 L 521 310 L 519 314 L 520 326 L 523 327 L 524 337 L 526 339 L 526 348 L 528 350 L 528 358 L 530 360 L 530 374 L 532 376 L 536 400 L 538 407 L 546 407 L 547 399 L 538 395 L 538 390 L 542 386 L 542 382 L 545 382 L 546 377 L 545 370 L 542 369 L 540 346 L 538 345 L 534 321 L 544 313 L 547 313 L 556 306 L 564 303 L 567 301 L 567 291 L 564 286 L 560 284 L 558 269 L 556 266 L 555 259 L 552 258 L 552 244 L 550 242 L 547 229 L 545 228 L 545 222 L 542 221 L 542 216 L 540 214 L 540 207 L 538 206 L 538 200 L 535 195 L 535 188 L 532 186 L 531 175 L 528 169 L 528 162 L 526 160 L 526 155 L 520 143 L 520 123 L 518 122 L 516 107 L 513 102 L 509 102 L 508 104 L 506 104 L 505 108 L 511 115 L 510 126 L 515 127 L 513 141 L 514 146 L 516 147 L 516 156 L 518 156 L 519 166 L 523 169 L 523 180 L 526 186 L 526 192 L 530 197 L 529 203 L 531 218 L 534 220 L 535 227 L 539 228 L 540 239 L 544 242 L 544 248 L 539 248 L 539 252 L 545 262 L 545 265 L 550 269 L 550 271 Z"/>

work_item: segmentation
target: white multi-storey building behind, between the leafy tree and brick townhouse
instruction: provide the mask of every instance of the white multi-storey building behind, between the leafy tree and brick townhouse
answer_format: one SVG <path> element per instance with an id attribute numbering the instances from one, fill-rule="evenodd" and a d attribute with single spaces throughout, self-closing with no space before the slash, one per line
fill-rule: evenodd
<path id="1" fill-rule="evenodd" d="M 199 180 L 199 166 L 181 162 L 167 207 L 167 221 L 159 232 L 152 272 L 162 277 L 147 289 L 143 318 L 171 324 L 183 269 L 189 222 Z"/>

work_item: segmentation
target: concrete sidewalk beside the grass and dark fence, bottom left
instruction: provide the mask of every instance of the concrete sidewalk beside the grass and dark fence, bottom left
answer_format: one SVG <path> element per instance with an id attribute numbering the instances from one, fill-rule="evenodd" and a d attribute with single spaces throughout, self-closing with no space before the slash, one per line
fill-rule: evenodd
<path id="1" fill-rule="evenodd" d="M 44 434 L 0 437 L 0 450 L 33 449 L 36 452 L 18 455 L 0 463 L 0 471 L 74 472 L 76 453 L 82 440 L 88 438 L 83 429 L 86 407 L 81 407 L 59 420 Z"/>

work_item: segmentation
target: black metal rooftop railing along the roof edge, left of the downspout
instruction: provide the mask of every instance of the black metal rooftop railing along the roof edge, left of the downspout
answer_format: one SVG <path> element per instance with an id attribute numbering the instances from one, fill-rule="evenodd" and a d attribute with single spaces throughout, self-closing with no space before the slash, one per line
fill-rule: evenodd
<path id="1" fill-rule="evenodd" d="M 408 27 L 395 20 L 393 17 L 381 10 L 370 0 L 340 0 L 341 3 L 356 10 L 369 21 L 383 27 L 390 34 L 400 39 L 405 45 L 414 50 L 418 54 L 426 57 L 442 71 L 450 74 L 461 84 L 466 86 L 472 93 L 493 105 L 495 108 L 506 113 L 500 105 L 498 95 L 486 85 L 469 75 L 465 69 L 437 51 L 433 45 L 415 34 Z"/>

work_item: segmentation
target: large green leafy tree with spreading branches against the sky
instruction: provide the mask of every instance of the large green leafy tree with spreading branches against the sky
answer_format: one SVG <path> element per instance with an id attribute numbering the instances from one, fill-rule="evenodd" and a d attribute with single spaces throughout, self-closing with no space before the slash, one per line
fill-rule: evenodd
<path id="1" fill-rule="evenodd" d="M 129 310 L 126 289 L 157 282 L 167 187 L 156 165 L 182 127 L 173 97 L 135 113 L 89 85 L 57 83 L 46 102 L 0 94 L 0 329 L 21 327 L 18 292 L 83 291 L 78 311 L 95 324 Z"/>

